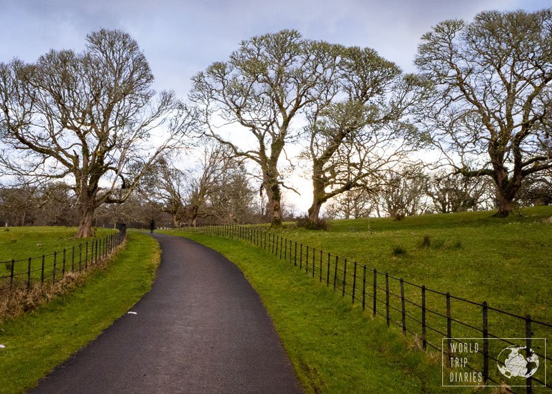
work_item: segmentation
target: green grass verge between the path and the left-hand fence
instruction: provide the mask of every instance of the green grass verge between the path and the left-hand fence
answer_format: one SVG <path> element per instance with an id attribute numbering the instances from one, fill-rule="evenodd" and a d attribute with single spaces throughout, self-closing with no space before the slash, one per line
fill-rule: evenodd
<path id="1" fill-rule="evenodd" d="M 106 269 L 92 273 L 85 286 L 3 324 L 0 392 L 31 388 L 97 337 L 149 290 L 159 261 L 155 239 L 130 232 L 126 247 Z"/>

